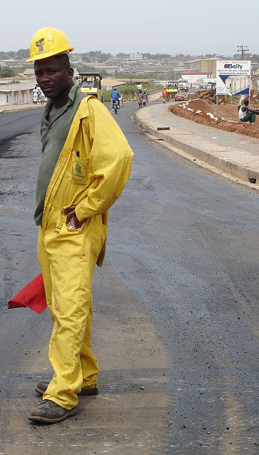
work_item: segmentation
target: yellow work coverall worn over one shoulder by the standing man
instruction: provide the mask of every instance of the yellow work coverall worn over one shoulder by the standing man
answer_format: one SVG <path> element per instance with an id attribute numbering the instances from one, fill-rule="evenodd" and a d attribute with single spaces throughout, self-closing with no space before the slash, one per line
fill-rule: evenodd
<path id="1" fill-rule="evenodd" d="M 78 156 L 79 155 L 79 156 Z M 38 259 L 54 329 L 54 377 L 44 393 L 71 409 L 81 388 L 95 387 L 91 352 L 91 281 L 105 252 L 108 208 L 123 190 L 133 153 L 105 106 L 83 98 L 52 175 L 39 228 Z M 63 210 L 76 204 L 82 230 L 69 229 Z"/>

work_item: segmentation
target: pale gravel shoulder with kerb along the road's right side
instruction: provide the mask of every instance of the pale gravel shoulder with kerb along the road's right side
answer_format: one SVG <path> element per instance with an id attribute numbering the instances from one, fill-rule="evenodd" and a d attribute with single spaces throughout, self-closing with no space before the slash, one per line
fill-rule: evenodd
<path id="1" fill-rule="evenodd" d="M 153 136 L 154 140 L 163 140 L 163 145 L 183 158 L 235 183 L 259 190 L 259 159 L 256 153 L 227 145 L 217 145 L 196 133 L 193 134 L 192 131 L 181 129 L 181 118 L 168 111 L 171 106 L 172 103 L 165 106 L 148 106 L 138 110 L 134 118 L 147 133 Z M 199 127 L 210 128 L 201 125 Z M 215 136 L 217 134 L 218 131 L 215 131 Z M 229 135 L 229 143 L 231 143 L 233 133 L 226 134 Z M 251 179 L 252 182 L 255 179 L 257 183 L 251 183 Z"/>

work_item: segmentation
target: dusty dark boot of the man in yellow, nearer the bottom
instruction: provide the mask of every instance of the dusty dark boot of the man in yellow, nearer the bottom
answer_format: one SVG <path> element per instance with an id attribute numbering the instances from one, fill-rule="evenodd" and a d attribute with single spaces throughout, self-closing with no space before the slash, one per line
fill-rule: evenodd
<path id="1" fill-rule="evenodd" d="M 41 424 L 56 424 L 76 414 L 76 410 L 76 407 L 65 409 L 49 399 L 44 399 L 41 404 L 32 409 L 28 419 Z"/>

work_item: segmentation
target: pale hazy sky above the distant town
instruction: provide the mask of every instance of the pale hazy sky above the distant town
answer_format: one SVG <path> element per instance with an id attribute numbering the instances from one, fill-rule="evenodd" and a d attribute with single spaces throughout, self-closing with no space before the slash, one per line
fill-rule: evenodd
<path id="1" fill-rule="evenodd" d="M 243 44 L 259 53 L 259 1 L 247 5 L 243 0 L 14 0 L 14 14 L 1 21 L 0 51 L 28 48 L 38 29 L 54 26 L 76 52 L 230 56 Z"/>

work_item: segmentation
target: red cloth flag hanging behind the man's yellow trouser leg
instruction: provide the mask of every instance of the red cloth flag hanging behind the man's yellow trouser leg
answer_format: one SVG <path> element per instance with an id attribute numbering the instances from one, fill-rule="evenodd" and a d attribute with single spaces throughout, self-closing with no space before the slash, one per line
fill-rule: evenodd
<path id="1" fill-rule="evenodd" d="M 47 306 L 44 281 L 41 273 L 26 285 L 18 294 L 11 297 L 9 308 L 29 307 L 36 313 L 41 313 Z"/>

